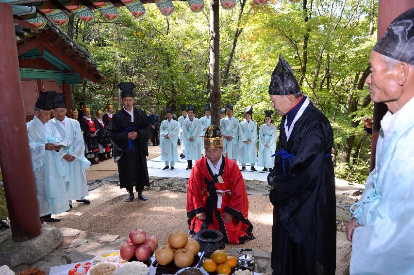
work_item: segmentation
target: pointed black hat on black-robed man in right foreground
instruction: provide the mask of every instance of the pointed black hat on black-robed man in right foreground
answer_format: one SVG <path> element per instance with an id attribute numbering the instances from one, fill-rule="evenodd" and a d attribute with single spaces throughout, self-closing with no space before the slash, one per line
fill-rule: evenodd
<path id="1" fill-rule="evenodd" d="M 282 96 L 294 95 L 300 92 L 298 81 L 290 65 L 284 60 L 282 53 L 279 55 L 279 62 L 273 70 L 270 79 L 269 95 Z"/>

